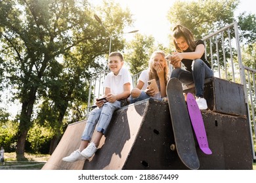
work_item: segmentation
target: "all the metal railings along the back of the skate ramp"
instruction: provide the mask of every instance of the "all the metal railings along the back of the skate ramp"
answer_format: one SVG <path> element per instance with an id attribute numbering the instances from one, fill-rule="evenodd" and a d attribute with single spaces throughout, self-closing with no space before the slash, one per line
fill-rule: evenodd
<path id="1" fill-rule="evenodd" d="M 245 103 L 248 110 L 248 122 L 251 132 L 253 159 L 255 157 L 255 69 L 245 67 L 242 63 L 238 24 L 233 22 L 219 31 L 202 39 L 205 43 L 205 58 L 211 63 L 214 76 L 244 85 Z M 238 72 L 239 71 L 239 72 Z M 91 107 L 91 94 L 93 99 L 103 95 L 102 81 L 109 71 L 102 71 L 91 80 L 87 115 Z M 133 76 L 133 86 L 136 86 L 140 73 Z M 93 100 L 94 101 L 94 100 Z"/>

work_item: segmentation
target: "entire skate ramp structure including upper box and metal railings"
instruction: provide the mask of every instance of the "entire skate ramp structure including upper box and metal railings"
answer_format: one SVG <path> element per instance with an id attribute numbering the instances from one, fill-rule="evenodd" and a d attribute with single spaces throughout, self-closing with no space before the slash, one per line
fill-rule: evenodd
<path id="1" fill-rule="evenodd" d="M 228 55 L 223 52 L 226 46 L 224 35 L 228 35 L 230 42 Z M 242 64 L 236 22 L 205 37 L 203 41 L 207 48 L 205 56 L 215 71 L 213 78 L 205 80 L 204 95 L 209 110 L 202 110 L 213 154 L 203 154 L 194 138 L 199 169 L 252 169 L 253 159 L 256 159 L 253 141 L 256 71 Z M 234 55 L 238 61 L 233 60 Z M 231 74 L 228 74 L 230 71 Z M 136 76 L 134 82 L 137 82 Z M 91 86 L 100 91 L 96 89 L 100 85 Z M 194 90 L 194 84 L 183 87 L 184 93 L 194 93 Z M 101 95 L 100 92 L 93 94 L 94 98 Z M 90 105 L 91 102 L 88 112 Z M 62 161 L 64 156 L 79 147 L 85 124 L 86 120 L 68 125 L 42 169 L 187 169 L 173 148 L 175 140 L 167 102 L 146 99 L 120 108 L 114 112 L 106 137 L 102 138 L 95 156 L 74 163 Z"/>

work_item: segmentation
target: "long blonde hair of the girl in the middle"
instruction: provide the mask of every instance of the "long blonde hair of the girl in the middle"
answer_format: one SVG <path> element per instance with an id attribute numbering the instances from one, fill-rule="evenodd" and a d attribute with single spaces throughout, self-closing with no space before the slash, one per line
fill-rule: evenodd
<path id="1" fill-rule="evenodd" d="M 165 76 L 165 84 L 167 84 L 167 81 L 169 80 L 169 67 L 165 59 L 165 53 L 161 50 L 157 50 L 153 52 L 153 54 L 150 57 L 150 60 L 148 61 L 148 67 L 150 68 L 150 71 L 148 73 L 149 80 L 152 80 L 152 79 L 159 80 L 158 74 L 156 73 L 156 70 L 153 68 L 153 59 L 156 54 L 161 54 L 161 56 L 163 56 L 163 59 L 165 60 L 165 67 L 163 70 L 164 70 L 164 76 Z"/>

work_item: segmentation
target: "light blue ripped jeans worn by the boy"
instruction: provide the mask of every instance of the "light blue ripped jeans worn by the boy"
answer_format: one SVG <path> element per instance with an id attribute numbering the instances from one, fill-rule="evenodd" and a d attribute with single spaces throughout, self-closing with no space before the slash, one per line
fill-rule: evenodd
<path id="1" fill-rule="evenodd" d="M 115 101 L 114 103 L 106 102 L 102 107 L 94 108 L 89 114 L 89 118 L 87 120 L 87 124 L 85 126 L 85 130 L 83 131 L 81 140 L 91 141 L 96 124 L 98 124 L 96 131 L 102 132 L 104 134 L 108 128 L 108 125 L 110 124 L 112 114 L 117 108 L 121 108 L 120 101 Z"/>

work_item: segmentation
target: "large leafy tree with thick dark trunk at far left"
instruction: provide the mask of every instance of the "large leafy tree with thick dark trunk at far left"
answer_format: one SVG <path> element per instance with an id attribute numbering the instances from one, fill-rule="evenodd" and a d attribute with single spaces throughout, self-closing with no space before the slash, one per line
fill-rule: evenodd
<path id="1" fill-rule="evenodd" d="M 105 5 L 101 14 L 106 14 L 106 24 L 113 23 L 107 28 L 112 33 L 121 33 L 125 25 L 131 24 L 129 11 L 117 8 L 112 11 L 113 3 Z M 53 119 L 60 122 L 72 100 L 70 96 L 80 84 L 74 84 L 81 80 L 79 70 L 83 70 L 81 77 L 89 78 L 89 68 L 100 68 L 95 60 L 107 52 L 109 35 L 93 18 L 85 0 L 0 1 L 0 30 L 1 59 L 4 60 L 1 68 L 5 68 L 6 78 L 18 91 L 13 94 L 22 103 L 16 149 L 20 159 L 24 158 L 26 137 L 32 127 L 37 100 L 51 96 L 47 100 L 58 110 L 57 118 Z M 119 48 L 123 41 L 114 43 L 114 48 Z M 74 51 L 82 60 L 81 64 L 75 62 L 77 59 L 72 62 Z M 58 103 L 61 99 L 64 101 Z"/>

